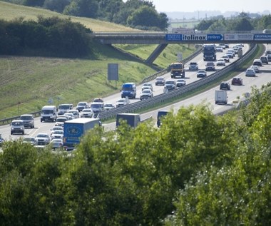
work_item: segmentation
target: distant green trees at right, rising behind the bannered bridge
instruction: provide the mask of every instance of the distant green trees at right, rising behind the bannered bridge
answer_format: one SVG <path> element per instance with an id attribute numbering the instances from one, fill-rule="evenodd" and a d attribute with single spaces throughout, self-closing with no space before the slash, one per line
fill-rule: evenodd
<path id="1" fill-rule="evenodd" d="M 262 31 L 263 29 L 271 29 L 271 15 L 250 17 L 250 14 L 242 12 L 232 19 L 215 16 L 200 21 L 195 29 L 200 31 Z"/>

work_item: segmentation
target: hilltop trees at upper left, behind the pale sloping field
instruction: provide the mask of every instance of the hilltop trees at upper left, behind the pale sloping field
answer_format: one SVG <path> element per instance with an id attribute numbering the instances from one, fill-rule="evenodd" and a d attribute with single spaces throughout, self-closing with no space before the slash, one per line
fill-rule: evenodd
<path id="1" fill-rule="evenodd" d="M 6 0 L 24 6 L 39 6 L 70 16 L 109 21 L 135 29 L 165 31 L 168 17 L 145 0 Z"/>

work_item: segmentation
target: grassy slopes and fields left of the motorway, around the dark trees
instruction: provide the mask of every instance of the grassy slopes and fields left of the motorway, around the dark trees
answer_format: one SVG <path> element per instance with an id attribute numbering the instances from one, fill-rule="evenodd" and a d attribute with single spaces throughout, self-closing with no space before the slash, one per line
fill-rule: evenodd
<path id="1" fill-rule="evenodd" d="M 7 4 L 0 1 L 0 19 L 12 20 L 24 16 L 36 19 L 37 15 L 59 16 L 52 11 L 26 6 Z M 74 18 L 93 31 L 131 31 L 133 29 L 86 18 Z M 135 30 L 133 30 L 135 31 Z M 118 45 L 140 58 L 147 58 L 156 45 Z M 169 45 L 155 60 L 160 68 L 167 67 L 195 51 L 194 46 Z M 108 63 L 118 63 L 119 81 L 108 84 Z M 88 58 L 46 58 L 34 56 L 0 56 L 0 119 L 22 113 L 39 111 L 42 106 L 53 100 L 53 104 L 91 101 L 119 91 L 121 83 L 139 83 L 155 71 L 144 63 L 115 51 L 113 48 L 96 43 Z"/>

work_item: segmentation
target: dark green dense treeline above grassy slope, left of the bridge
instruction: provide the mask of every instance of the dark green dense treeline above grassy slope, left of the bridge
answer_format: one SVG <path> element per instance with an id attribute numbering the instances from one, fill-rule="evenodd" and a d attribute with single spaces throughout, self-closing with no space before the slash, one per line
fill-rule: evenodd
<path id="1" fill-rule="evenodd" d="M 0 20 L 0 54 L 34 51 L 48 56 L 86 56 L 91 53 L 91 32 L 79 23 L 58 17 Z"/>

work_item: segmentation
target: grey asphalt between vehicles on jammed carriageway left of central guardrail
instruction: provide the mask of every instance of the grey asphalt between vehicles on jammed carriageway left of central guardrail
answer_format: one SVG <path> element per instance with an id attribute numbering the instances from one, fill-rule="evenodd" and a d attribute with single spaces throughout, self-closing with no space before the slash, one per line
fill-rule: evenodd
<path id="1" fill-rule="evenodd" d="M 232 45 L 231 45 L 232 46 Z M 249 46 L 245 45 L 245 47 L 243 47 L 243 53 L 245 53 L 248 50 Z M 223 53 L 217 53 L 217 58 L 220 58 L 221 56 L 223 56 L 225 54 L 225 52 L 227 51 L 227 49 L 225 49 L 223 51 Z M 237 60 L 237 56 L 235 56 L 235 58 L 230 59 L 230 63 L 232 63 L 233 61 Z M 206 61 L 203 61 L 203 53 L 200 53 L 198 56 L 196 56 L 195 58 L 193 58 L 193 60 L 191 60 L 193 62 L 198 62 L 198 66 L 199 69 L 205 69 L 205 63 Z M 188 70 L 188 66 L 189 63 L 185 64 L 185 80 L 186 83 L 192 83 L 193 81 L 197 81 L 198 79 L 201 78 L 197 78 L 196 73 L 197 71 L 189 71 Z M 229 63 L 226 63 L 226 66 Z M 216 69 L 222 69 L 223 66 L 220 67 L 216 67 Z M 208 76 L 210 76 L 212 73 L 214 73 L 214 71 L 208 71 Z M 170 78 L 170 73 L 166 73 L 165 75 L 165 79 L 169 79 Z M 128 81 L 127 81 L 128 82 Z M 160 93 L 163 93 L 163 86 L 155 86 L 155 82 L 154 81 L 150 81 L 150 83 L 153 83 L 153 93 L 154 95 L 159 95 Z M 140 95 L 140 91 L 141 91 L 141 85 L 137 86 L 137 98 L 136 99 L 131 99 L 131 103 L 136 102 L 136 101 L 140 101 L 139 100 L 139 95 Z M 200 95 L 201 96 L 201 95 Z M 118 101 L 118 99 L 121 98 L 121 93 L 116 93 L 112 96 L 108 96 L 106 98 L 103 98 L 103 101 L 105 103 L 113 103 L 114 105 L 116 104 L 116 101 Z M 144 116 L 143 116 L 144 118 Z M 106 127 L 111 129 L 114 128 L 116 123 L 107 125 Z M 29 129 L 26 128 L 25 130 L 25 135 L 24 136 L 36 136 L 38 133 L 51 133 L 51 128 L 53 127 L 54 123 L 51 122 L 45 122 L 45 123 L 41 123 L 40 122 L 40 118 L 35 118 L 35 128 L 33 129 Z M 20 137 L 22 137 L 22 135 L 11 135 L 10 134 L 10 125 L 4 125 L 4 126 L 0 126 L 0 133 L 2 134 L 3 138 L 5 140 L 16 140 Z"/>

